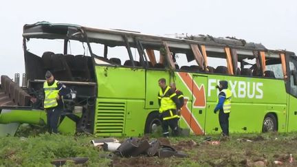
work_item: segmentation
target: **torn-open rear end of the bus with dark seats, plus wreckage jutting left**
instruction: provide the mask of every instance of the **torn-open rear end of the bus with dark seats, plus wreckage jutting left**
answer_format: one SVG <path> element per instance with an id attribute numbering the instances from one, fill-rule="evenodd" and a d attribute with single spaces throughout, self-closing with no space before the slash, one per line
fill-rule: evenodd
<path id="1" fill-rule="evenodd" d="M 35 40 L 35 41 L 34 41 Z M 87 50 L 83 43 L 79 42 L 82 49 L 80 52 L 75 52 L 74 48 L 78 46 L 72 45 L 68 41 L 68 50 L 70 53 L 63 53 L 62 47 L 56 45 L 48 45 L 49 47 L 39 48 L 30 45 L 34 41 L 34 45 L 46 41 L 54 41 L 47 39 L 31 38 L 24 43 L 25 50 L 25 72 L 26 72 L 26 87 L 20 87 L 8 76 L 1 76 L 0 87 L 0 107 L 8 109 L 43 109 L 43 82 L 45 82 L 45 71 L 51 71 L 54 78 L 64 85 L 72 89 L 76 93 L 76 98 L 72 99 L 69 96 L 63 97 L 65 103 L 64 115 L 70 115 L 75 108 L 81 109 L 83 113 L 82 119 L 76 117 L 72 119 L 78 123 L 78 128 L 92 132 L 94 124 L 94 109 L 96 102 L 96 77 L 94 71 L 93 58 L 85 55 Z M 27 45 L 26 45 L 27 44 Z M 58 42 L 58 44 L 61 44 Z M 52 47 L 52 49 L 50 48 Z M 69 52 L 69 51 L 68 51 Z"/>

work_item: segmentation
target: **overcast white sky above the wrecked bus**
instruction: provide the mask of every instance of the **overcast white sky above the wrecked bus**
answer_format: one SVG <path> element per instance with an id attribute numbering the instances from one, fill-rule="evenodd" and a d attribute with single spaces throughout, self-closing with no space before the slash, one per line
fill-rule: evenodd
<path id="1" fill-rule="evenodd" d="M 26 23 L 50 21 L 146 34 L 236 36 L 269 49 L 297 52 L 297 1 L 3 1 L 0 5 L 0 75 L 23 73 Z"/>

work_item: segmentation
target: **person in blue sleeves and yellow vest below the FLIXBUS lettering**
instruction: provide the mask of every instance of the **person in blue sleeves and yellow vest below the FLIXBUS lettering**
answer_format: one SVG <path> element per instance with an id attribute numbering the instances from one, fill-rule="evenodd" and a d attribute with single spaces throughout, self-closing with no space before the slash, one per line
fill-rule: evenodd
<path id="1" fill-rule="evenodd" d="M 217 107 L 214 109 L 214 113 L 219 111 L 219 124 L 221 130 L 223 131 L 223 136 L 229 136 L 229 116 L 231 112 L 231 96 L 232 93 L 228 89 L 228 82 L 225 80 L 220 80 L 219 85 L 219 97 L 217 100 Z"/>

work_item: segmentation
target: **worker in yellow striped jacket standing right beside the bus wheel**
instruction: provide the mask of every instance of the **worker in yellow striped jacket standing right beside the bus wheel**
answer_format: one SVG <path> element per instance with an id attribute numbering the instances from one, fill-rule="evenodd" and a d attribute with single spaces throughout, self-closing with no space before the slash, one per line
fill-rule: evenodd
<path id="1" fill-rule="evenodd" d="M 178 120 L 180 112 L 180 104 L 177 95 L 173 89 L 166 85 L 165 78 L 159 79 L 159 87 L 161 88 L 158 93 L 159 101 L 159 118 L 162 120 L 163 136 L 169 136 L 169 129 L 173 131 L 173 135 L 179 135 Z"/>

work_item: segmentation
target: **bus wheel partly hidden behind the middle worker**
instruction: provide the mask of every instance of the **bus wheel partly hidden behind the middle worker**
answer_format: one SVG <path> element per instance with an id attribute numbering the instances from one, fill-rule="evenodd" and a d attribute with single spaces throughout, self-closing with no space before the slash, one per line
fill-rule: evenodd
<path id="1" fill-rule="evenodd" d="M 162 122 L 159 119 L 159 112 L 153 111 L 148 114 L 148 117 L 146 118 L 146 124 L 144 128 L 144 133 L 154 133 L 157 131 L 157 127 L 161 126 Z"/>

